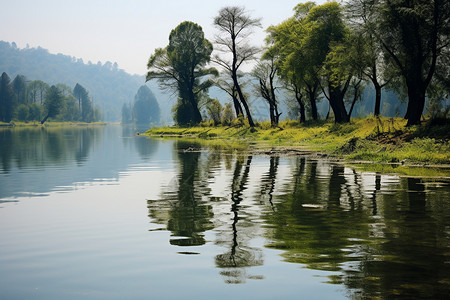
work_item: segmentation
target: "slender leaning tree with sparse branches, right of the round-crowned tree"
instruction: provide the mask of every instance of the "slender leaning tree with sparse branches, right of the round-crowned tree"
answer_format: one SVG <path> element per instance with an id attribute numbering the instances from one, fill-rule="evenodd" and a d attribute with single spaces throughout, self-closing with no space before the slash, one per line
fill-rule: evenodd
<path id="1" fill-rule="evenodd" d="M 261 26 L 260 19 L 250 17 L 244 7 L 227 6 L 219 11 L 213 24 L 219 30 L 215 43 L 218 51 L 223 54 L 215 55 L 213 61 L 229 72 L 247 114 L 248 123 L 253 127 L 255 123 L 238 80 L 238 70 L 243 63 L 255 59 L 259 52 L 257 47 L 249 45 L 247 41 L 253 29 Z M 231 59 L 228 58 L 230 54 Z"/>

